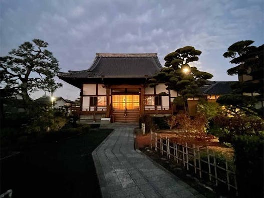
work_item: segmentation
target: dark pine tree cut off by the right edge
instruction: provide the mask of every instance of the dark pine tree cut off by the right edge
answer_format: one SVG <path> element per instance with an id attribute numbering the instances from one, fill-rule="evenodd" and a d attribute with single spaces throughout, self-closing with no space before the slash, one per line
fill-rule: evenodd
<path id="1" fill-rule="evenodd" d="M 263 117 L 261 103 L 263 103 L 264 90 L 264 45 L 251 46 L 253 42 L 238 41 L 223 54 L 225 58 L 231 59 L 231 64 L 235 64 L 235 67 L 227 70 L 227 74 L 238 75 L 239 82 L 232 86 L 233 93 L 222 95 L 217 102 Z"/>

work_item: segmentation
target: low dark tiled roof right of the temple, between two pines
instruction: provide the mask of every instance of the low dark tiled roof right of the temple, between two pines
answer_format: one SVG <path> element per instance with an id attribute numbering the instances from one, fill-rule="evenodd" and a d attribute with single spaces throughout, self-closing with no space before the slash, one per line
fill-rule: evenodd
<path id="1" fill-rule="evenodd" d="M 202 92 L 205 95 L 222 95 L 232 92 L 231 85 L 237 81 L 218 81 L 213 84 L 203 87 Z M 206 88 L 206 89 L 205 89 Z"/>

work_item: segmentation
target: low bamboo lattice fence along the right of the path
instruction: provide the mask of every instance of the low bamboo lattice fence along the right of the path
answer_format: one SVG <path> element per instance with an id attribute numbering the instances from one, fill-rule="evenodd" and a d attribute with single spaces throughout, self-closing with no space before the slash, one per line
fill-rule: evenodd
<path id="1" fill-rule="evenodd" d="M 214 151 L 208 148 L 201 149 L 197 145 L 188 145 L 186 142 L 179 143 L 171 141 L 151 131 L 151 149 L 159 151 L 169 159 L 182 163 L 187 170 L 192 170 L 200 178 L 208 176 L 210 181 L 222 182 L 227 186 L 228 191 L 233 188 L 237 195 L 237 183 L 233 162 L 220 158 Z M 192 167 L 192 168 L 191 168 Z"/>

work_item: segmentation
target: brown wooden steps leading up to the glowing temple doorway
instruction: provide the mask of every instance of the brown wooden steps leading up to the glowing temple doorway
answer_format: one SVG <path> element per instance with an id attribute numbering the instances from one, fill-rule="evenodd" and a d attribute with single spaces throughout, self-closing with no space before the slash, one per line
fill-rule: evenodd
<path id="1" fill-rule="evenodd" d="M 127 116 L 124 116 L 125 110 L 114 110 L 114 122 L 138 122 L 139 110 L 127 110 Z"/>

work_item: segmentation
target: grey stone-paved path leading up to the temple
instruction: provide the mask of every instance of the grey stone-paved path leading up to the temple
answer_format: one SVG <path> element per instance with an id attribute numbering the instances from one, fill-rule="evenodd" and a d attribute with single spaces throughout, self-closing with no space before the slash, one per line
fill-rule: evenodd
<path id="1" fill-rule="evenodd" d="M 203 197 L 134 150 L 132 127 L 116 128 L 94 151 L 103 197 Z"/>

